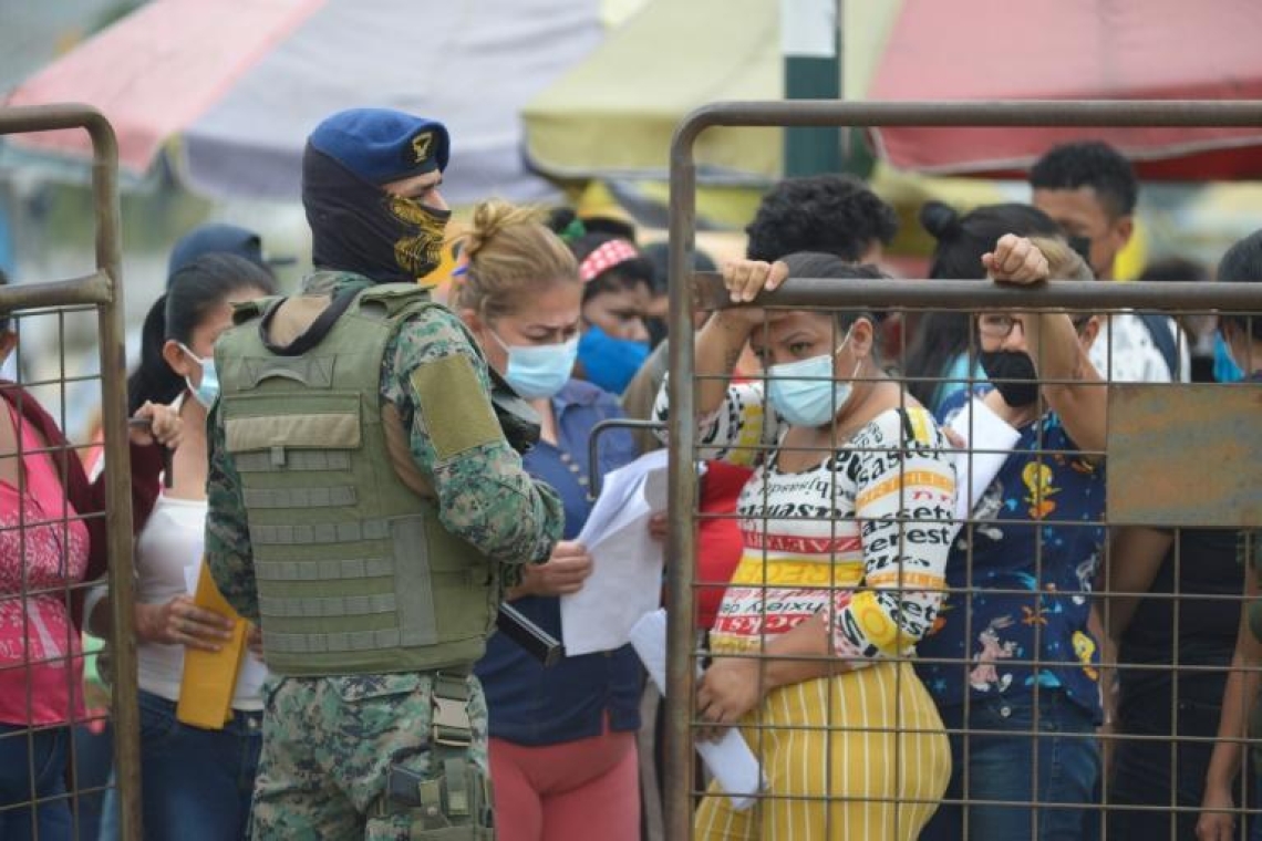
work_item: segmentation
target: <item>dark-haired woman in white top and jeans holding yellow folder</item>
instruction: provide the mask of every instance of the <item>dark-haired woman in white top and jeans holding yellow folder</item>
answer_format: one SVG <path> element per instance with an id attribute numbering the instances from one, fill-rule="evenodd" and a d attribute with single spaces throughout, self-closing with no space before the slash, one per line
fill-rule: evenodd
<path id="1" fill-rule="evenodd" d="M 141 363 L 127 381 L 133 406 L 173 403 L 184 434 L 172 475 L 153 511 L 136 523 L 136 658 L 140 685 L 140 770 L 145 832 L 154 838 L 245 838 L 261 748 L 262 678 L 254 653 L 236 678 L 232 717 L 203 730 L 175 717 L 184 652 L 217 651 L 231 620 L 198 608 L 196 586 L 206 531 L 206 417 L 218 396 L 215 342 L 232 325 L 232 305 L 270 295 L 275 281 L 232 255 L 198 257 L 175 271 L 145 318 Z M 88 596 L 88 629 L 109 633 L 109 591 Z M 117 802 L 106 801 L 106 826 Z"/>

